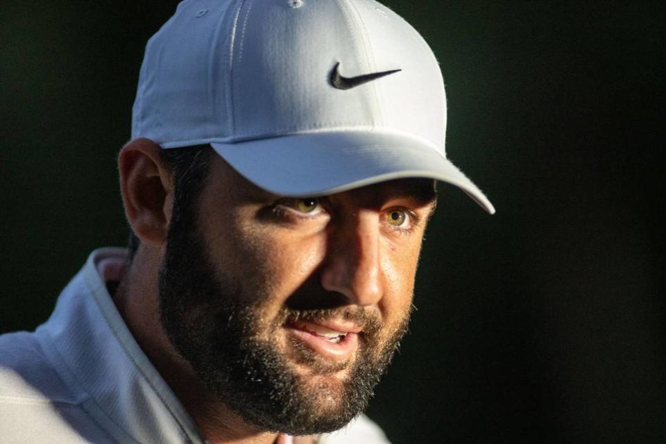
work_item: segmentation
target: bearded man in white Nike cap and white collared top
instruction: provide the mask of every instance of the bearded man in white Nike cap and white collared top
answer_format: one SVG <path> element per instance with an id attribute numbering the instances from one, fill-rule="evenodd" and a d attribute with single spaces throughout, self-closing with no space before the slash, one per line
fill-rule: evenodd
<path id="1" fill-rule="evenodd" d="M 379 3 L 182 2 L 119 155 L 130 251 L 0 339 L 0 441 L 386 442 L 361 412 L 433 180 L 494 212 L 444 133 L 432 51 Z"/>

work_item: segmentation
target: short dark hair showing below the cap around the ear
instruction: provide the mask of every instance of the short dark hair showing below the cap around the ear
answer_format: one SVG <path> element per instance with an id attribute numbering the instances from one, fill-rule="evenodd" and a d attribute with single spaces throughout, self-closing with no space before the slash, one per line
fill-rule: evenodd
<path id="1" fill-rule="evenodd" d="M 212 151 L 212 147 L 208 144 L 160 150 L 162 162 L 171 169 L 171 179 L 173 180 L 172 220 L 180 218 L 181 208 L 191 207 L 191 205 L 185 204 L 196 200 L 200 195 L 208 178 Z M 128 262 L 130 264 L 139 245 L 141 245 L 141 240 L 130 228 L 128 241 Z"/>

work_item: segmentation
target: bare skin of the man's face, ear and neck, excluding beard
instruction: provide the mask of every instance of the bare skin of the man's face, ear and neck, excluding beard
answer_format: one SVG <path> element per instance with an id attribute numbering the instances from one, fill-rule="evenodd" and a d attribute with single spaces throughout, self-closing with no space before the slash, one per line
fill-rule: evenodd
<path id="1" fill-rule="evenodd" d="M 142 350 L 207 441 L 273 443 L 278 436 L 247 424 L 207 396 L 194 370 L 162 330 L 157 273 L 171 219 L 173 183 L 160 149 L 148 139 L 136 139 L 119 155 L 126 216 L 142 242 L 114 301 Z M 306 205 L 305 200 L 259 189 L 221 157 L 213 157 L 200 196 L 200 208 L 205 211 L 199 212 L 198 223 L 214 270 L 235 275 L 241 282 L 248 273 L 253 274 L 248 282 L 270 282 L 271 297 L 262 301 L 267 322 L 282 307 L 334 305 L 368 311 L 381 321 L 379 337 L 388 340 L 410 311 L 420 246 L 435 205 L 432 180 L 382 182 Z M 395 221 L 392 216 L 400 217 Z M 300 298 L 303 292 L 298 290 L 311 284 L 323 289 L 316 292 L 321 300 Z M 253 295 L 251 288 L 246 290 L 244 294 Z M 271 340 L 302 384 L 341 387 L 355 352 L 349 365 L 332 373 L 316 371 L 290 341 L 287 327 L 273 332 Z M 327 402 L 334 399 L 321 400 L 321 409 L 330 407 Z M 313 440 L 302 437 L 297 442 Z"/>

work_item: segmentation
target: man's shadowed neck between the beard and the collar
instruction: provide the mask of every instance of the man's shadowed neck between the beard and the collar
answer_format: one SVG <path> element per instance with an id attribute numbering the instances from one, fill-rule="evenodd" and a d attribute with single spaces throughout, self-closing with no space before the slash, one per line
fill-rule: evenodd
<path id="1" fill-rule="evenodd" d="M 160 261 L 139 248 L 113 295 L 114 303 L 139 346 L 210 444 L 269 444 L 277 435 L 248 425 L 224 404 L 211 399 L 189 362 L 169 342 L 160 321 L 157 272 Z M 278 442 L 281 440 L 278 440 Z"/>

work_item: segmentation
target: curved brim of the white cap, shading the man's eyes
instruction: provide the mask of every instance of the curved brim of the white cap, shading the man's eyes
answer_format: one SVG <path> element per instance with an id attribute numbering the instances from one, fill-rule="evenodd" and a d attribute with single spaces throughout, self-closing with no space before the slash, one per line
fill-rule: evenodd
<path id="1" fill-rule="evenodd" d="M 454 164 L 420 139 L 396 133 L 301 133 L 225 144 L 214 150 L 258 187 L 280 196 L 323 196 L 400 178 L 433 178 L 495 207 Z"/>

